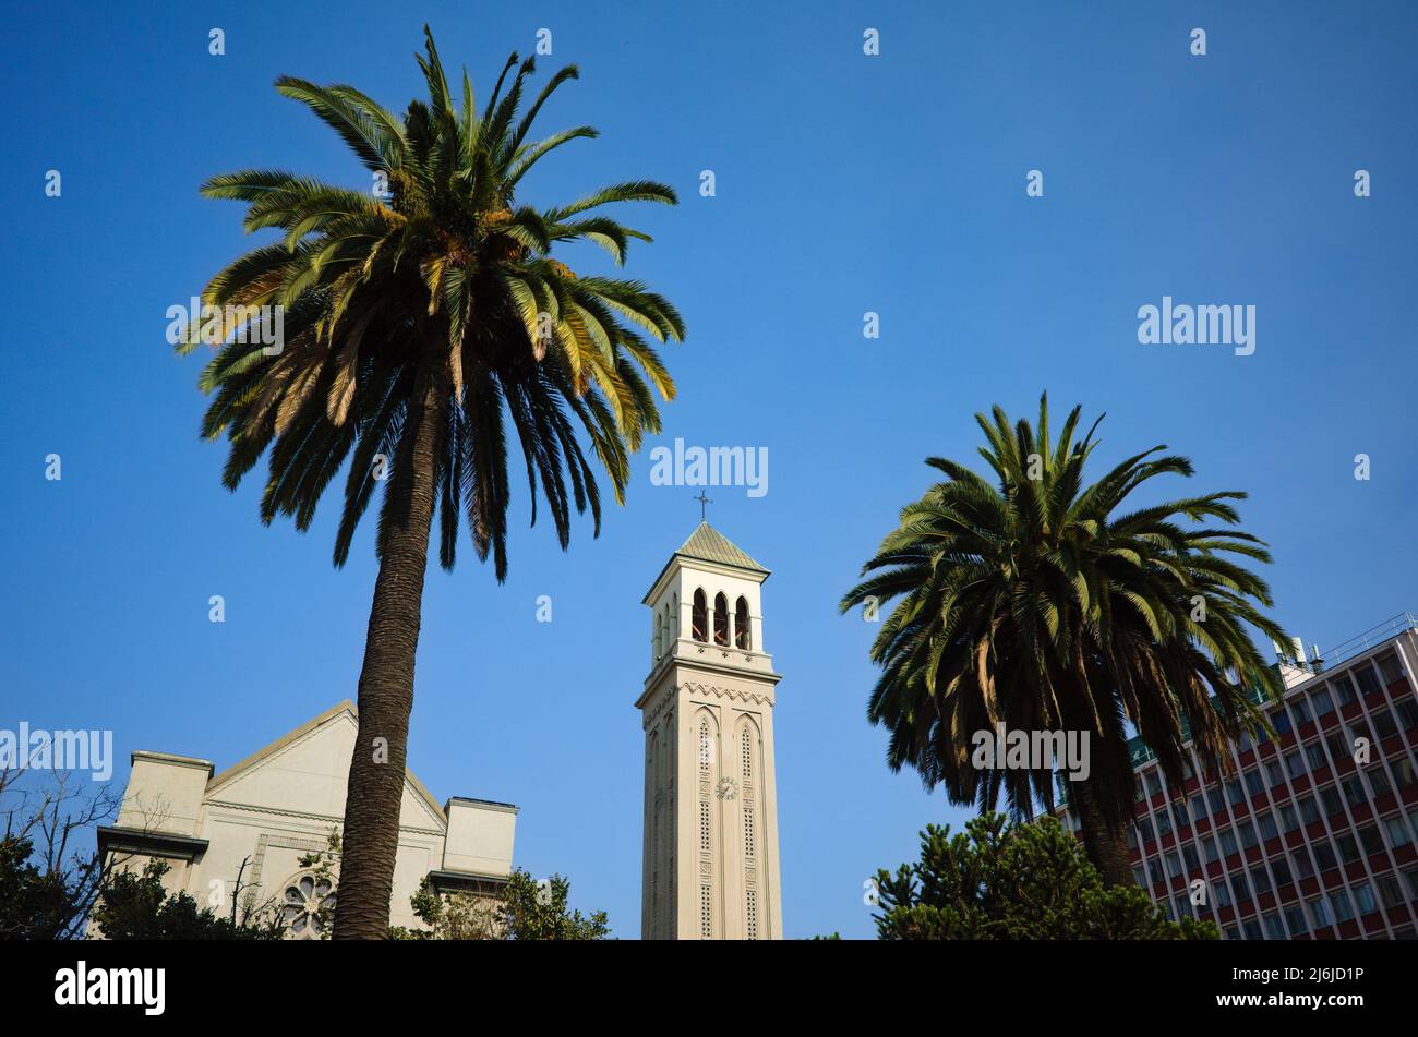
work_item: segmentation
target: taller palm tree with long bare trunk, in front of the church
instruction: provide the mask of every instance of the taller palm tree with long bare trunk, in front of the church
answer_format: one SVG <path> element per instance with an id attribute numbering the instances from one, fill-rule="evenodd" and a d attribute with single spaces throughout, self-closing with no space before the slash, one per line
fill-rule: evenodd
<path id="1" fill-rule="evenodd" d="M 598 534 L 600 493 L 577 429 L 624 503 L 628 455 L 645 432 L 659 431 L 655 392 L 675 395 L 648 339 L 685 334 L 675 307 L 644 285 L 577 276 L 552 258 L 556 245 L 590 241 L 624 262 L 631 238 L 649 238 L 593 210 L 674 204 L 674 190 L 637 180 L 552 208 L 515 201 L 542 157 L 597 136 L 590 126 L 529 136 L 576 68 L 553 75 L 523 113 L 535 65 L 523 61 L 508 85 L 513 54 L 479 113 L 467 72 L 462 102 L 454 103 L 427 26 L 424 34 L 418 64 L 428 99 L 411 101 L 401 119 L 353 86 L 277 81 L 281 94 L 340 135 L 372 178 L 387 184 L 387 197 L 284 170 L 218 176 L 201 188 L 247 203 L 248 232 L 284 232 L 217 273 L 201 296 L 225 343 L 200 380 L 214 394 L 201 434 L 230 441 L 224 484 L 235 489 L 269 448 L 261 520 L 292 516 L 305 530 L 349 460 L 337 567 L 383 487 L 336 938 L 387 934 L 435 513 L 442 567 L 454 565 L 465 514 L 474 550 L 482 560 L 492 555 L 501 582 L 510 432 L 526 462 L 532 521 L 540 483 L 563 550 L 573 504 L 579 513 L 590 506 Z M 259 307 L 284 307 L 284 341 L 275 347 L 245 341 L 255 337 L 248 332 Z M 196 340 L 189 333 L 179 348 Z"/>

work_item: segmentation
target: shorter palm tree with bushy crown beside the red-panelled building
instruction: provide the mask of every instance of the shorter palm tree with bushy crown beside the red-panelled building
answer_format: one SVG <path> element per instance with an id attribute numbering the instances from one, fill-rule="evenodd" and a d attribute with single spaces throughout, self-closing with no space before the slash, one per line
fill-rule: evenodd
<path id="1" fill-rule="evenodd" d="M 984 812 L 1004 792 L 1017 816 L 1035 803 L 1052 810 L 1048 768 L 978 768 L 974 734 L 1001 721 L 1088 732 L 1089 775 L 1071 783 L 1069 803 L 1089 858 L 1119 884 L 1132 881 L 1127 722 L 1174 788 L 1188 738 L 1208 768 L 1228 769 L 1227 741 L 1265 725 L 1256 690 L 1283 690 L 1242 625 L 1279 643 L 1285 633 L 1258 609 L 1272 605 L 1265 581 L 1231 557 L 1271 560 L 1262 541 L 1229 528 L 1239 523 L 1231 502 L 1245 494 L 1134 504 L 1154 477 L 1193 475 L 1166 446 L 1086 484 L 1098 422 L 1075 441 L 1079 411 L 1056 442 L 1046 394 L 1037 429 L 1011 429 L 1000 407 L 977 414 L 998 484 L 929 458 L 946 480 L 902 509 L 841 608 L 899 598 L 872 645 L 882 673 L 868 717 L 891 732 L 891 768 L 915 768 L 951 802 Z"/>

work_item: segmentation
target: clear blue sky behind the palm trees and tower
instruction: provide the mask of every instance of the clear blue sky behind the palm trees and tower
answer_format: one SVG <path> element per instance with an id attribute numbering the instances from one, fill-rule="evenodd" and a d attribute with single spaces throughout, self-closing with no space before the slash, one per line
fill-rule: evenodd
<path id="1" fill-rule="evenodd" d="M 0 62 L 0 724 L 113 728 L 118 782 L 132 749 L 225 766 L 354 696 L 370 528 L 336 571 L 333 500 L 298 534 L 257 521 L 259 470 L 221 489 L 224 449 L 196 436 L 203 360 L 173 356 L 164 310 L 250 245 L 203 178 L 279 166 L 369 186 L 272 79 L 401 109 L 425 18 L 484 95 L 542 27 L 543 68 L 580 65 L 540 122 L 603 136 L 546 162 L 525 201 L 635 177 L 683 198 L 628 212 L 657 237 L 628 271 L 689 324 L 661 442 L 770 453 L 767 496 L 712 490 L 710 518 L 774 574 L 788 935 L 869 935 L 862 880 L 966 816 L 886 769 L 864 720 L 873 628 L 835 604 L 927 486 L 922 459 L 974 456 L 977 409 L 1022 415 L 1048 388 L 1107 411 L 1100 460 L 1166 442 L 1195 460 L 1187 489 L 1249 490 L 1276 616 L 1306 642 L 1418 608 L 1412 4 L 143 7 L 14 11 Z M 1140 346 L 1137 307 L 1164 295 L 1255 305 L 1255 354 Z M 569 554 L 526 528 L 523 493 L 508 582 L 468 551 L 424 602 L 413 769 L 440 800 L 519 803 L 516 861 L 569 874 L 621 936 L 640 932 L 640 598 L 698 521 L 693 493 L 652 486 L 642 452 L 627 507 L 600 540 L 580 524 Z"/>

